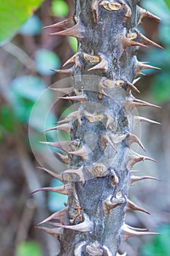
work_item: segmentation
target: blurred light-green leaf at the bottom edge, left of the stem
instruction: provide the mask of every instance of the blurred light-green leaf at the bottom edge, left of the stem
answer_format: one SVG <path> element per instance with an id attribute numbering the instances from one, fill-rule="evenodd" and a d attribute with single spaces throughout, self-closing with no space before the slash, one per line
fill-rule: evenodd
<path id="1" fill-rule="evenodd" d="M 41 256 L 42 249 L 35 241 L 23 241 L 18 244 L 15 256 Z"/>

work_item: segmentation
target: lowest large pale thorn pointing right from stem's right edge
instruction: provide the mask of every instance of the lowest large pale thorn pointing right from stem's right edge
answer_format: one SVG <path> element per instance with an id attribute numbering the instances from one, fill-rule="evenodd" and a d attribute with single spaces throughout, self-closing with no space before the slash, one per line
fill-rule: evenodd
<path id="1" fill-rule="evenodd" d="M 159 235 L 159 233 L 147 232 L 146 229 L 138 229 L 138 228 L 136 229 L 135 227 L 130 227 L 124 224 L 123 227 L 121 227 L 121 235 L 122 235 L 122 241 L 125 241 L 128 238 L 131 238 L 133 236 Z"/>

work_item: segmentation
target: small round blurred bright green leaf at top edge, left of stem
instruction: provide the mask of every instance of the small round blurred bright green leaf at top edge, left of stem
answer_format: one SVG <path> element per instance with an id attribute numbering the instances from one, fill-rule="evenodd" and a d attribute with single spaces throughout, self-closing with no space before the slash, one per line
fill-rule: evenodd
<path id="1" fill-rule="evenodd" d="M 51 10 L 53 15 L 59 18 L 69 14 L 69 6 L 66 1 L 63 0 L 53 0 L 51 4 Z"/>

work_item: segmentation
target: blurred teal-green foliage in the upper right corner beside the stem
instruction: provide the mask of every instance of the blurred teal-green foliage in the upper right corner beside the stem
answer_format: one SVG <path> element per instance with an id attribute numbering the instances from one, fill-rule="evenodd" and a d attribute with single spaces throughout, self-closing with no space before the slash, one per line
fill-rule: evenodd
<path id="1" fill-rule="evenodd" d="M 169 1 L 166 3 L 169 4 Z M 164 49 L 152 48 L 147 52 L 147 56 L 144 56 L 144 59 L 149 59 L 152 65 L 162 69 L 158 72 L 152 70 L 145 72 L 147 75 L 155 73 L 150 83 L 150 95 L 158 104 L 166 103 L 170 99 L 170 10 L 166 3 L 163 0 L 142 0 L 142 6 L 161 18 L 158 33 Z"/>

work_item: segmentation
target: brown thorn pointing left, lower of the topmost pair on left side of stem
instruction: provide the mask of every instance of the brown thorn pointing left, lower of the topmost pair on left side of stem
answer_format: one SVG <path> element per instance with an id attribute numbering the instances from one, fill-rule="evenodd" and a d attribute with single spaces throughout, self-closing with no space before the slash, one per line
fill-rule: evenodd
<path id="1" fill-rule="evenodd" d="M 81 39 L 83 37 L 84 29 L 82 26 L 77 23 L 72 28 L 65 29 L 63 31 L 58 31 L 55 33 L 50 33 L 50 36 L 66 36 L 66 37 L 76 37 L 77 39 Z"/>

